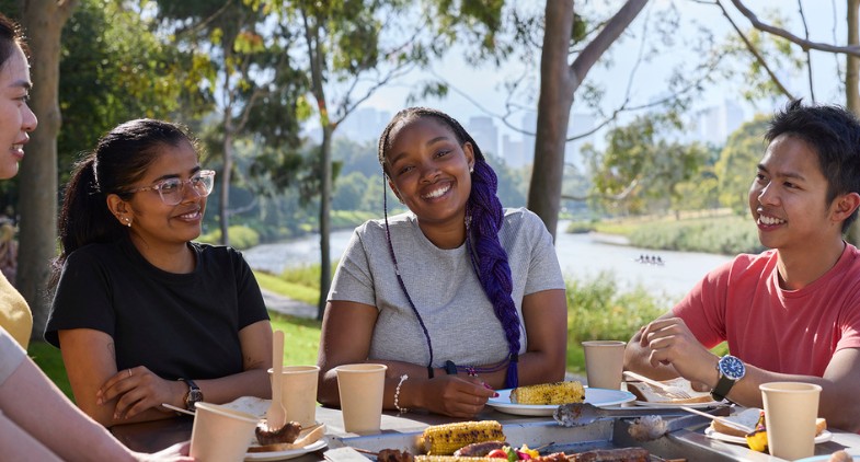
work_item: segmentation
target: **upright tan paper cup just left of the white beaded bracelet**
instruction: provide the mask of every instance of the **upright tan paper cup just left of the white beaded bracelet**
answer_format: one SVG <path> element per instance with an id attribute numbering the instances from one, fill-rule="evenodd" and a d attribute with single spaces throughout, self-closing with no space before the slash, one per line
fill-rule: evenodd
<path id="1" fill-rule="evenodd" d="M 385 365 L 344 365 L 337 372 L 343 426 L 353 434 L 378 434 L 382 424 Z"/>

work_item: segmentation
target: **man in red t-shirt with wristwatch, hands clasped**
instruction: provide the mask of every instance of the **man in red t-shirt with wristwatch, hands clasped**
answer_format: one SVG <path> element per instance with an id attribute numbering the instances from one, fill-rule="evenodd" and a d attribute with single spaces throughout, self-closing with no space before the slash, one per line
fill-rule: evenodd
<path id="1" fill-rule="evenodd" d="M 762 406 L 761 383 L 816 383 L 819 416 L 858 431 L 860 252 L 844 234 L 860 205 L 860 124 L 842 107 L 792 101 L 765 140 L 749 210 L 768 250 L 710 272 L 642 327 L 626 368 L 748 407 Z M 723 340 L 731 354 L 720 358 L 709 348 Z"/>

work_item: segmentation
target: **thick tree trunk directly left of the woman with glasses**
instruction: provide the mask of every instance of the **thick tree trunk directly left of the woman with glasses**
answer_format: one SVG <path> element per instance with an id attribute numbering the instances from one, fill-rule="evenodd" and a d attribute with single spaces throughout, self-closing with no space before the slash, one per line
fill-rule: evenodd
<path id="1" fill-rule="evenodd" d="M 27 0 L 21 23 L 32 55 L 33 112 L 38 128 L 31 134 L 21 162 L 21 233 L 18 288 L 33 311 L 33 339 L 41 340 L 49 303 L 45 290 L 57 250 L 57 135 L 60 129 L 59 62 L 62 26 L 77 0 Z"/>

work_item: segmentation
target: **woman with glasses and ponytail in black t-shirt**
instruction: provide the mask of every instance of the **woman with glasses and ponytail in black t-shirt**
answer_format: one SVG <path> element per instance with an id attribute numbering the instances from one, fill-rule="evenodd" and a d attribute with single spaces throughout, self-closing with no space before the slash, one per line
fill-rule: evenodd
<path id="1" fill-rule="evenodd" d="M 192 242 L 214 180 L 187 131 L 139 119 L 102 137 L 69 181 L 45 338 L 105 426 L 172 416 L 162 403 L 270 397 L 256 280 L 239 252 Z"/>

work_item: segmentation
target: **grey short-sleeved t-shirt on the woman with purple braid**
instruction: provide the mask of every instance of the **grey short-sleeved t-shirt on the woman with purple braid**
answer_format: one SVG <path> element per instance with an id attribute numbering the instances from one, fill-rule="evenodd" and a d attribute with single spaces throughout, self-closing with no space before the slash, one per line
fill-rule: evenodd
<path id="1" fill-rule="evenodd" d="M 403 282 L 429 332 L 433 366 L 442 367 L 446 360 L 480 366 L 505 359 L 508 347 L 504 331 L 474 274 L 466 245 L 438 249 L 424 236 L 411 212 L 389 217 L 389 228 Z M 521 324 L 523 297 L 564 289 L 564 279 L 552 236 L 528 209 L 506 209 L 498 239 L 507 252 L 513 299 Z M 328 299 L 379 310 L 369 358 L 427 363 L 427 343 L 397 280 L 383 220 L 356 228 Z M 519 353 L 526 350 L 526 344 L 523 328 Z"/>

